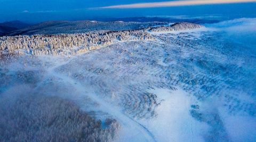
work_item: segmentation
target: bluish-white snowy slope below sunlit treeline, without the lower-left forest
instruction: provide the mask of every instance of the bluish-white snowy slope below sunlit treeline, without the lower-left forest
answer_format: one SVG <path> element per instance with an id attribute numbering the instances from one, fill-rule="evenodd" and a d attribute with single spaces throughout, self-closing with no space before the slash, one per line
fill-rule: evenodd
<path id="1" fill-rule="evenodd" d="M 149 32 L 155 40 L 70 57 L 3 56 L 1 97 L 11 99 L 10 89 L 26 85 L 38 95 L 74 102 L 101 120 L 109 136 L 102 141 L 113 140 L 112 132 L 114 141 L 255 141 L 255 23 L 238 19 L 202 30 Z M 0 120 L 2 136 L 8 119 Z"/>

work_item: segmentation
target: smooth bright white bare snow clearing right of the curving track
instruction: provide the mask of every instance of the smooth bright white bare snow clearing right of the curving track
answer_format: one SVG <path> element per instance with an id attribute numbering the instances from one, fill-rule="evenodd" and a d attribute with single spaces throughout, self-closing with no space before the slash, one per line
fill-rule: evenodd
<path id="1" fill-rule="evenodd" d="M 141 122 L 158 141 L 204 141 L 203 134 L 209 126 L 191 117 L 190 105 L 197 102 L 193 96 L 181 88 L 176 91 L 158 88 L 150 92 L 164 101 L 156 109 L 156 118 Z"/>

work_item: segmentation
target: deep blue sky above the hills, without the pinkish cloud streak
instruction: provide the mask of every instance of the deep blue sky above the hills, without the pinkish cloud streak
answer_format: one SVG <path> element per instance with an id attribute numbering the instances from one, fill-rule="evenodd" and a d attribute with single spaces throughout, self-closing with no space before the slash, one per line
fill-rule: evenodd
<path id="1" fill-rule="evenodd" d="M 193 0 L 194 1 L 194 0 Z M 204 0 L 203 0 L 204 1 Z M 219 0 L 206 0 L 219 1 Z M 229 1 L 229 0 L 225 0 Z M 237 1 L 237 0 L 236 0 Z M 246 1 L 246 0 L 239 0 Z M 249 0 L 252 1 L 252 0 Z M 186 5 L 175 7 L 95 8 L 170 0 L 0 0 L 0 22 L 21 20 L 42 22 L 49 20 L 86 20 L 99 17 L 133 16 L 205 16 L 221 19 L 256 17 L 256 3 Z M 155 4 L 153 4 L 155 5 Z"/>

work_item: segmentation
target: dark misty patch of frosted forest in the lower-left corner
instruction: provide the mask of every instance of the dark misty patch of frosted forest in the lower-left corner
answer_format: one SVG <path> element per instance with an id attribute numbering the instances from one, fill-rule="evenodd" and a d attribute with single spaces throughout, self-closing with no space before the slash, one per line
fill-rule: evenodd
<path id="1" fill-rule="evenodd" d="M 119 129 L 107 128 L 73 102 L 57 96 L 13 94 L 0 100 L 0 141 L 113 141 Z"/>

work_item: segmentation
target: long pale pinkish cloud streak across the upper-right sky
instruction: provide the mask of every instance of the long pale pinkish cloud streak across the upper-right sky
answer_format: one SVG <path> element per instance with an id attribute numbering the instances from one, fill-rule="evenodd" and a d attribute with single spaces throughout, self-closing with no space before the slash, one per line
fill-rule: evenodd
<path id="1" fill-rule="evenodd" d="M 256 2 L 256 0 L 185 0 L 185 1 L 169 1 L 169 2 L 111 5 L 111 6 L 100 7 L 100 8 L 174 7 L 174 6 L 189 6 L 189 5 L 206 5 L 206 4 L 249 3 L 249 2 Z"/>

